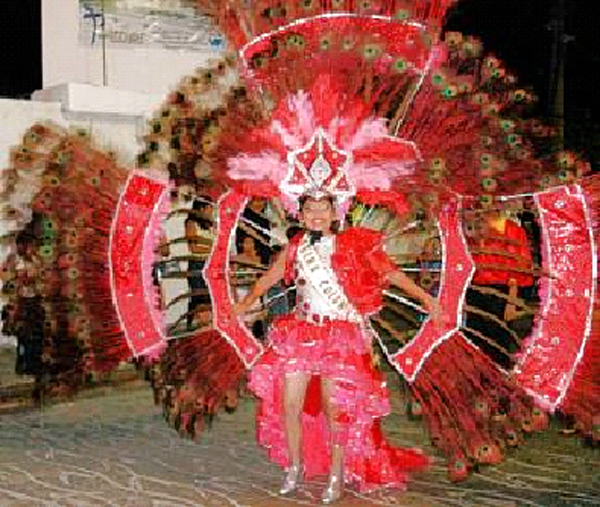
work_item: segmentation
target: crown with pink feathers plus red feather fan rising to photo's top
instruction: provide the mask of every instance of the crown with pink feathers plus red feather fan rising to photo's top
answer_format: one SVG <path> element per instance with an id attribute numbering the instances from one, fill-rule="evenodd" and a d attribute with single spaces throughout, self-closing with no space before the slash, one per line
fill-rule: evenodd
<path id="1" fill-rule="evenodd" d="M 262 105 L 247 129 L 235 119 L 225 127 L 224 177 L 262 183 L 291 212 L 303 194 L 328 194 L 343 213 L 357 193 L 389 192 L 414 171 L 416 146 L 390 134 L 437 54 L 452 1 L 200 3 L 239 49 Z"/>

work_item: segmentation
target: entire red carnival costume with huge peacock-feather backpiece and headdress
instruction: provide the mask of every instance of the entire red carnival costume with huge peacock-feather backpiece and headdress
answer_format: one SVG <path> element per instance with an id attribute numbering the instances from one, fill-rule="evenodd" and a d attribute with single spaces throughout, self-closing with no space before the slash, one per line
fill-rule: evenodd
<path id="1" fill-rule="evenodd" d="M 338 244 L 332 269 L 358 315 L 311 324 L 310 315 L 321 314 L 309 308 L 300 316 L 300 307 L 275 325 L 272 349 L 265 350 L 233 313 L 230 246 L 246 203 L 254 196 L 277 200 L 293 214 L 312 185 L 336 196 L 342 222 L 356 206 L 385 209 L 391 226 L 382 233 L 388 241 L 419 216 L 436 224 L 442 250 L 438 298 L 447 322 L 438 329 L 425 320 L 413 333 L 392 333 L 393 339 L 386 329 L 393 332 L 394 323 L 377 331 L 388 362 L 421 406 L 432 442 L 447 456 L 452 478 L 500 461 L 522 432 L 545 427 L 546 411 L 572 415 L 583 434 L 600 440 L 600 185 L 583 160 L 553 149 L 554 129 L 523 119 L 533 97 L 498 59 L 483 56 L 471 37 L 448 33 L 440 40 L 454 2 L 197 3 L 238 53 L 185 78 L 168 97 L 139 157 L 146 172 L 127 174 L 89 140 L 48 126 L 26 134 L 5 172 L 13 199 L 19 181 L 41 186 L 32 201 L 13 202 L 7 211 L 31 206 L 46 217 L 45 332 L 56 334 L 58 327 L 65 340 L 85 349 L 74 371 L 108 369 L 131 355 L 157 357 L 165 348 L 151 272 L 169 189 L 147 169 L 164 170 L 170 162 L 172 183 L 206 187 L 217 215 L 204 270 L 213 327 L 172 340 L 155 384 L 169 422 L 182 433 L 201 430 L 250 370 L 263 398 L 259 436 L 265 443 L 282 442 L 269 407 L 277 401 L 275 373 L 291 366 L 281 360 L 288 353 L 276 351 L 289 348 L 308 362 L 318 350 L 336 361 L 319 362 L 315 373 L 334 365 L 351 369 L 352 375 L 342 377 L 363 386 L 352 396 L 369 394 L 357 402 L 357 412 L 344 413 L 379 443 L 370 447 L 367 438 L 361 444 L 367 447 L 350 450 L 357 459 L 348 457 L 347 479 L 366 488 L 402 480 L 387 468 L 371 474 L 375 465 L 358 451 L 386 445 L 373 423 L 388 409 L 381 379 L 366 363 L 352 363 L 367 362 L 363 322 L 381 301 L 365 298 L 381 294 L 378 270 L 346 283 L 344 273 L 358 276 L 362 270 L 334 267 L 342 251 Z M 536 279 L 541 304 L 532 309 L 512 302 L 535 322 L 507 372 L 463 333 L 465 293 L 476 285 L 478 267 L 464 232 L 472 225 L 467 212 L 504 207 L 521 195 L 540 217 L 542 264 L 537 271 L 524 269 Z M 351 231 L 335 241 L 366 234 Z M 340 266 L 361 265 L 360 258 L 348 262 Z M 386 293 L 385 305 L 398 297 Z M 303 355 L 305 327 L 320 339 Z M 340 329 L 352 354 L 332 340 Z M 321 346 L 326 348 L 315 348 Z M 340 400 L 351 396 L 341 388 L 338 394 Z M 352 448 L 352 435 L 340 438 Z M 271 453 L 286 464 L 285 453 L 274 447 Z M 385 465 L 379 450 L 373 456 L 377 467 Z M 321 455 L 308 463 L 311 474 L 322 471 Z"/>

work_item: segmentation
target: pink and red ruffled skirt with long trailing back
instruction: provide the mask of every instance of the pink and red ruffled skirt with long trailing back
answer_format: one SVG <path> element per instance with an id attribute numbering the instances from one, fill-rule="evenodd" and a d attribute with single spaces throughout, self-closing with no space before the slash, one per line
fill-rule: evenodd
<path id="1" fill-rule="evenodd" d="M 287 315 L 275 321 L 269 337 L 270 347 L 250 375 L 250 389 L 260 398 L 257 438 L 271 460 L 289 465 L 284 379 L 288 373 L 304 372 L 312 375 L 301 415 L 307 478 L 329 473 L 332 440 L 345 446 L 344 478 L 360 491 L 403 487 L 407 472 L 427 468 L 429 459 L 419 450 L 394 447 L 381 432 L 380 418 L 390 410 L 388 390 L 371 365 L 370 338 L 360 325 L 316 325 Z M 321 410 L 321 378 L 333 381 L 335 439 Z"/>

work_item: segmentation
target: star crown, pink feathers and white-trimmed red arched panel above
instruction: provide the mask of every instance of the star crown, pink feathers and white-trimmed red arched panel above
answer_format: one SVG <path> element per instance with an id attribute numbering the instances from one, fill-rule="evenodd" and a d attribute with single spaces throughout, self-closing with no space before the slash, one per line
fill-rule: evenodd
<path id="1" fill-rule="evenodd" d="M 432 54 L 425 25 L 386 16 L 330 13 L 260 35 L 240 50 L 242 73 L 275 107 L 228 175 L 269 180 L 291 212 L 306 193 L 337 197 L 343 213 L 357 193 L 389 192 L 420 155 L 373 106 L 393 95 L 389 83 L 418 87 Z"/>

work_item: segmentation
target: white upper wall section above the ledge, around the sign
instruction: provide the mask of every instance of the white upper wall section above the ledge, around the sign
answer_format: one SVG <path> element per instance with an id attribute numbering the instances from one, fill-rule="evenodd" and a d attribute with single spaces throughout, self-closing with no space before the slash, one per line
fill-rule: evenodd
<path id="1" fill-rule="evenodd" d="M 135 0 L 121 2 L 125 7 L 135 3 Z M 181 77 L 220 54 L 210 46 L 209 33 L 201 34 L 203 42 L 195 45 L 195 50 L 167 48 L 159 43 L 133 45 L 108 41 L 103 51 L 101 37 L 94 44 L 91 37 L 89 41 L 81 39 L 82 16 L 79 0 L 42 0 L 44 88 L 86 83 L 165 95 Z M 107 24 L 107 30 L 108 36 L 114 33 L 114 23 Z M 123 30 L 126 32 L 128 28 Z"/>

